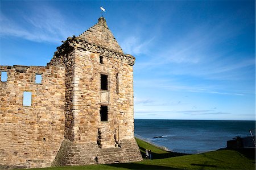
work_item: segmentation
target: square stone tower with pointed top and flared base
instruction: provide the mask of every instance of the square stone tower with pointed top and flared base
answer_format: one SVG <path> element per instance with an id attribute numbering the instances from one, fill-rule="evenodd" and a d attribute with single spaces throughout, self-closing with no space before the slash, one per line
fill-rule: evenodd
<path id="1" fill-rule="evenodd" d="M 133 64 L 105 18 L 68 38 L 48 65 L 65 67 L 65 139 L 55 165 L 139 161 L 134 139 Z"/>

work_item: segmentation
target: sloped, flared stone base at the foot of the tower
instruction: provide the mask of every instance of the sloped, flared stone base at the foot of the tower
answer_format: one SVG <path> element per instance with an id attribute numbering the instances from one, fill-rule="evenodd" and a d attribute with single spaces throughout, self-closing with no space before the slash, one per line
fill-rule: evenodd
<path id="1" fill-rule="evenodd" d="M 111 164 L 141 161 L 135 139 L 123 139 L 119 147 L 99 148 L 97 143 L 73 143 L 63 140 L 52 166 Z"/>

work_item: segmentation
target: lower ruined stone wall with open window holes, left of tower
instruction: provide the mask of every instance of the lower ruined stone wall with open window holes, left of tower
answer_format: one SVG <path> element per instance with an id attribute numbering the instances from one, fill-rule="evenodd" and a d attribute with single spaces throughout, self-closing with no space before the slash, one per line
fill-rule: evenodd
<path id="1" fill-rule="evenodd" d="M 0 71 L 8 76 L 0 81 L 0 167 L 49 167 L 64 139 L 65 69 L 14 65 Z M 32 92 L 31 106 L 23 106 L 24 91 Z"/>

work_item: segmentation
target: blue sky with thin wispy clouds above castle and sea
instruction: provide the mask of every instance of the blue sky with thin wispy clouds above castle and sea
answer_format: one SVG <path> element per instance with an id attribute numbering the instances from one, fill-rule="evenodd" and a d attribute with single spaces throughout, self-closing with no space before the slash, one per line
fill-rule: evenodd
<path id="1" fill-rule="evenodd" d="M 135 118 L 255 120 L 255 1 L 0 2 L 0 65 L 46 65 L 103 6 L 136 57 Z"/>

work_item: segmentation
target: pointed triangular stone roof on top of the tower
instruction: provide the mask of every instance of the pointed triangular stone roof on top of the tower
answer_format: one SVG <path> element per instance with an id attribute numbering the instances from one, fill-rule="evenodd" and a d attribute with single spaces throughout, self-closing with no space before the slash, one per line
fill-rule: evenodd
<path id="1" fill-rule="evenodd" d="M 109 30 L 106 20 L 103 16 L 98 19 L 98 23 L 90 27 L 87 31 L 78 36 L 86 42 L 100 45 L 102 47 L 121 52 L 122 48 L 117 43 L 112 32 Z"/>

